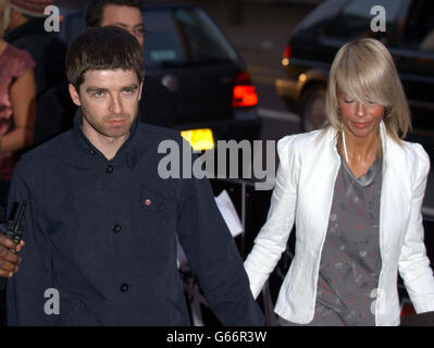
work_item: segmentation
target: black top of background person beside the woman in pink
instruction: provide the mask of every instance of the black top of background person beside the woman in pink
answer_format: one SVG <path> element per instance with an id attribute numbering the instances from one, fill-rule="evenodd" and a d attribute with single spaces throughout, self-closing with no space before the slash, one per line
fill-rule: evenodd
<path id="1" fill-rule="evenodd" d="M 4 40 L 9 44 L 27 50 L 35 61 L 34 72 L 38 98 L 65 79 L 66 47 L 58 33 L 45 30 L 45 21 L 46 18 L 32 18 L 4 36 Z"/>

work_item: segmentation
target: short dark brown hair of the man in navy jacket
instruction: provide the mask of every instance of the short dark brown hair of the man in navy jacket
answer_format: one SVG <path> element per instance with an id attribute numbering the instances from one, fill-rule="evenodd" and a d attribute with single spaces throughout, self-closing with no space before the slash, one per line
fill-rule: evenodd
<path id="1" fill-rule="evenodd" d="M 66 77 L 77 90 L 86 72 L 119 69 L 134 70 L 139 82 L 145 77 L 144 51 L 137 39 L 122 28 L 88 28 L 67 47 Z"/>

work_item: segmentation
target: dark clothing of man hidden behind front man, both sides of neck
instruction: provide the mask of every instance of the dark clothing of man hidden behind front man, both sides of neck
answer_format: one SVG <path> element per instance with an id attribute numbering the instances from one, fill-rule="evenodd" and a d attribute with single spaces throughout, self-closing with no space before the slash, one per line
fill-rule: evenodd
<path id="1" fill-rule="evenodd" d="M 44 94 L 38 100 L 34 144 L 40 145 L 73 127 L 77 107 L 64 82 Z M 169 90 L 157 79 L 146 76 L 139 102 L 140 122 L 172 127 L 172 99 Z"/>

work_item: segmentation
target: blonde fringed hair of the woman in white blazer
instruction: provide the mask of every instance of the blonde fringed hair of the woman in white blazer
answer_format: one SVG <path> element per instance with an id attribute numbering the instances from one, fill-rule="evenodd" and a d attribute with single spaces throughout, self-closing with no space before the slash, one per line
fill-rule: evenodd
<path id="1" fill-rule="evenodd" d="M 327 123 L 342 128 L 338 91 L 360 103 L 385 107 L 383 122 L 387 134 L 400 142 L 411 129 L 411 116 L 394 60 L 379 40 L 363 38 L 344 45 L 333 61 L 326 92 Z"/>

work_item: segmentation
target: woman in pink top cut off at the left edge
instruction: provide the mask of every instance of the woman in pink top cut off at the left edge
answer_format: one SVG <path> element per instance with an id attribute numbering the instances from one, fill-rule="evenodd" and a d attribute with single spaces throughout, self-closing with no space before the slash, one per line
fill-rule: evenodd
<path id="1" fill-rule="evenodd" d="M 0 0 L 0 206 L 8 201 L 9 182 L 17 162 L 16 151 L 32 145 L 36 90 L 27 51 L 1 39 L 8 28 L 10 8 Z"/>

